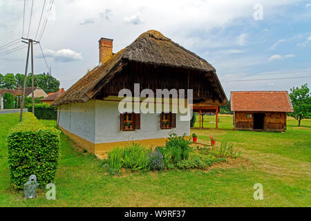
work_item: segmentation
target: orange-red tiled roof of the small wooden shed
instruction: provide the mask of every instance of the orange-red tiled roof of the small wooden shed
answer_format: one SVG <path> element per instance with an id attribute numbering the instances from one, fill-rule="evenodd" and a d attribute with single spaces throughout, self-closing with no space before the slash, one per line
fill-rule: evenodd
<path id="1" fill-rule="evenodd" d="M 230 97 L 232 111 L 294 111 L 287 91 L 232 91 Z"/>

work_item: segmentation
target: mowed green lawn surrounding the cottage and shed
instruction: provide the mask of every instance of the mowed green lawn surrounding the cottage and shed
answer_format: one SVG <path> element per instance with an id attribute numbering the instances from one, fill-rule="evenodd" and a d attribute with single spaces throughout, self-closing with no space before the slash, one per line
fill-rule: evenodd
<path id="1" fill-rule="evenodd" d="M 57 200 L 23 199 L 10 188 L 6 137 L 18 115 L 0 115 L 0 206 L 311 206 L 311 121 L 288 121 L 286 133 L 232 131 L 232 116 L 205 117 L 205 128 L 194 128 L 200 141 L 228 140 L 243 149 L 249 164 L 209 171 L 129 172 L 111 177 L 92 154 L 77 151 L 62 134 L 61 160 L 55 180 Z M 55 121 L 41 120 L 48 126 Z M 196 125 L 198 126 L 198 125 Z M 254 200 L 253 186 L 263 184 L 263 200 Z"/>

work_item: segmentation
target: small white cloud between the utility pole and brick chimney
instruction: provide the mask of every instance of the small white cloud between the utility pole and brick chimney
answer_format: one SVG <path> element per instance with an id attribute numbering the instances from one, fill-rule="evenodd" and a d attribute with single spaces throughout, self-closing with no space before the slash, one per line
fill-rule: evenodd
<path id="1" fill-rule="evenodd" d="M 55 61 L 59 62 L 69 62 L 69 61 L 78 61 L 82 60 L 82 53 L 75 52 L 70 49 L 62 49 L 62 50 L 44 50 L 44 55 L 46 57 L 51 57 Z"/>

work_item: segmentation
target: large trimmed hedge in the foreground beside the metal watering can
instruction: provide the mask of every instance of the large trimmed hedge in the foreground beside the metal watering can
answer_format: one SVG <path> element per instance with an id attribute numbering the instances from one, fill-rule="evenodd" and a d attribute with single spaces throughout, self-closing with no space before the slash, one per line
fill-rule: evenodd
<path id="1" fill-rule="evenodd" d="M 53 182 L 59 159 L 60 131 L 41 124 L 32 113 L 25 113 L 23 121 L 8 135 L 8 164 L 10 182 L 15 189 L 32 174 L 40 186 Z"/>

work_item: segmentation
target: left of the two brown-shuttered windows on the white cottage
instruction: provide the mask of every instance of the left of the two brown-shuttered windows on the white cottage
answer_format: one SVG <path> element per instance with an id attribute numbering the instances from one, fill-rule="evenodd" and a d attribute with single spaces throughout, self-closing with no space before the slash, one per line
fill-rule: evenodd
<path id="1" fill-rule="evenodd" d="M 140 113 L 120 114 L 120 131 L 135 131 L 140 129 Z"/>

